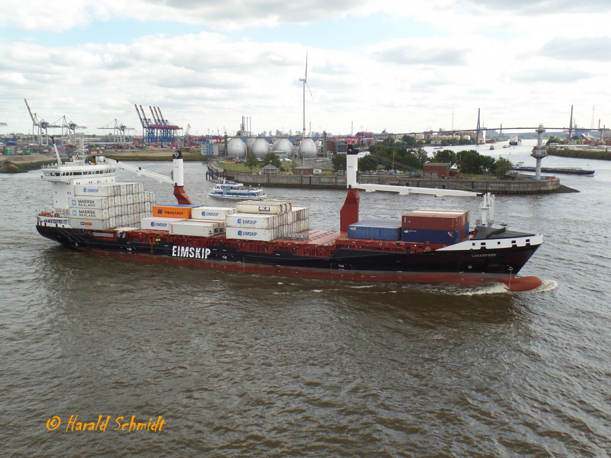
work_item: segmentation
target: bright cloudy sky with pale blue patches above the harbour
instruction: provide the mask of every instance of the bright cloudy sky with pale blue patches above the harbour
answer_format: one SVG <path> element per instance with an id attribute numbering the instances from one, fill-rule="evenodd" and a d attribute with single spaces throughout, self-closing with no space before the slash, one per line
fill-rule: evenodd
<path id="1" fill-rule="evenodd" d="M 609 0 L 0 0 L 0 133 L 611 126 Z M 307 89 L 306 89 L 307 90 Z"/>

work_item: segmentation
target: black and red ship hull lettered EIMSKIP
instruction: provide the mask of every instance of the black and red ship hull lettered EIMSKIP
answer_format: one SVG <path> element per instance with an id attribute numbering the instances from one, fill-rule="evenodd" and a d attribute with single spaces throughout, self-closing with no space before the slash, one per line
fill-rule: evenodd
<path id="1" fill-rule="evenodd" d="M 159 239 L 151 243 L 117 238 L 112 232 L 106 233 L 108 237 L 104 238 L 92 231 L 51 225 L 37 225 L 37 230 L 62 245 L 102 256 L 188 267 L 368 282 L 461 285 L 501 282 L 513 291 L 541 285 L 536 277 L 516 277 L 539 245 L 419 253 L 338 248 L 326 255 L 305 255 L 293 253 L 274 242 L 266 245 L 267 252 L 258 252 L 243 249 L 240 244 L 228 244 L 224 238 L 197 238 L 195 243 L 185 238 L 180 241 Z"/>

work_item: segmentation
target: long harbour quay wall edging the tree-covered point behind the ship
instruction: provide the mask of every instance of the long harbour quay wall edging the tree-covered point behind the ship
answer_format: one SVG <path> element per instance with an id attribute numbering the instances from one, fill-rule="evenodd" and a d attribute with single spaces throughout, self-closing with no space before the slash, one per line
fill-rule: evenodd
<path id="1" fill-rule="evenodd" d="M 220 165 L 209 163 L 208 167 L 222 173 Z M 244 184 L 264 187 L 305 187 L 310 189 L 346 189 L 346 177 L 337 175 L 258 175 L 256 173 L 234 172 L 225 170 L 230 180 Z M 441 189 L 459 189 L 461 191 L 492 192 L 492 194 L 527 195 L 562 192 L 560 180 L 430 180 L 426 178 L 402 178 L 395 180 L 391 176 L 361 175 L 360 183 L 397 184 L 398 186 L 433 187 Z"/>

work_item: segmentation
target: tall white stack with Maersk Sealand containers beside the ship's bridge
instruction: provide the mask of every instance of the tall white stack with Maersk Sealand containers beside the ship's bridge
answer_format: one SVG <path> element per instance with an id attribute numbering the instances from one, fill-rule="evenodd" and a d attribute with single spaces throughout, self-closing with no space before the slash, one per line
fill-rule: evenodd
<path id="1" fill-rule="evenodd" d="M 77 184 L 74 188 L 68 213 L 75 228 L 139 227 L 155 204 L 155 194 L 144 191 L 142 183 Z"/>

